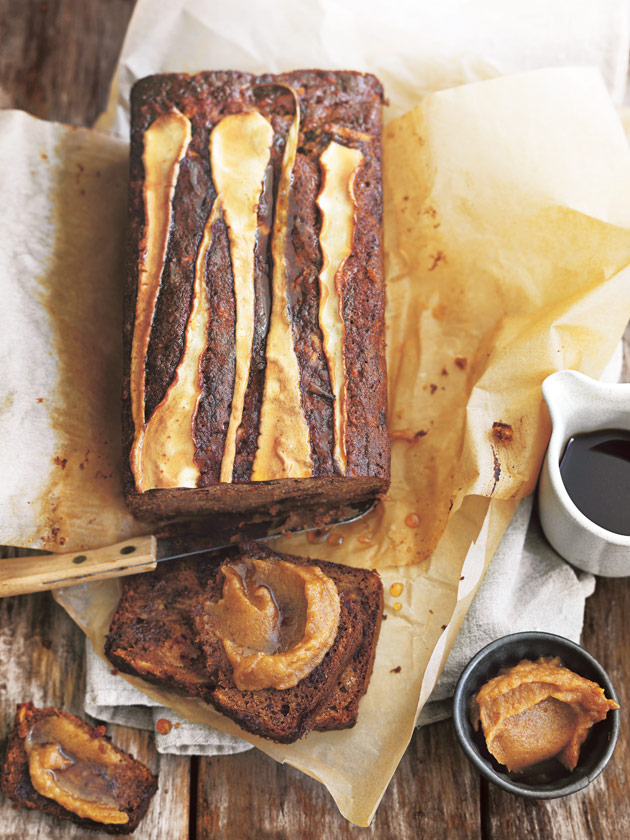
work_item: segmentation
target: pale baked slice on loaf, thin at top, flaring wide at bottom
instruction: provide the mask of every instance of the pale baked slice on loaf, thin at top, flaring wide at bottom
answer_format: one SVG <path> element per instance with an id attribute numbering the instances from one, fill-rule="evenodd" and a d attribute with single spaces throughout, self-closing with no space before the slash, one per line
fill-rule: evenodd
<path id="1" fill-rule="evenodd" d="M 313 473 L 310 433 L 302 410 L 300 370 L 293 346 L 293 328 L 287 295 L 289 191 L 300 124 L 299 103 L 295 93 L 293 96 L 295 116 L 287 135 L 282 159 L 271 240 L 273 302 L 267 335 L 267 366 L 260 431 L 252 468 L 252 481 L 306 478 Z"/>

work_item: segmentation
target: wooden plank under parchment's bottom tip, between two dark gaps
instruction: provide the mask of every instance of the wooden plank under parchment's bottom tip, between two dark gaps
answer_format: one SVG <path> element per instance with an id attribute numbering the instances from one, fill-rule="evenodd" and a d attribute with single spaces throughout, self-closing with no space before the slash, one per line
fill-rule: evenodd
<path id="1" fill-rule="evenodd" d="M 481 836 L 479 783 L 450 722 L 416 732 L 370 828 L 348 823 L 318 782 L 252 751 L 203 758 L 198 840 L 474 840 Z"/>

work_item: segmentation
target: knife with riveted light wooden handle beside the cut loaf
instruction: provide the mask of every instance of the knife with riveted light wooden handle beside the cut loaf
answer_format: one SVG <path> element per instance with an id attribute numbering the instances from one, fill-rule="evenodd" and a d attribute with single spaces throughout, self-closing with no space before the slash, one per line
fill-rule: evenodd
<path id="1" fill-rule="evenodd" d="M 321 510 L 317 514 L 302 509 L 299 511 L 299 524 L 294 527 L 290 526 L 286 514 L 275 518 L 267 515 L 259 521 L 248 522 L 224 516 L 213 518 L 212 521 L 204 519 L 170 523 L 154 534 L 133 537 L 116 545 L 87 551 L 52 554 L 20 549 L 28 553 L 21 557 L 0 559 L 0 598 L 150 572 L 163 560 L 233 547 L 239 536 L 262 540 L 319 529 L 322 539 L 325 539 L 328 528 L 354 522 L 373 505 L 373 500 L 348 504 L 335 511 L 334 520 L 325 525 L 321 524 Z"/>

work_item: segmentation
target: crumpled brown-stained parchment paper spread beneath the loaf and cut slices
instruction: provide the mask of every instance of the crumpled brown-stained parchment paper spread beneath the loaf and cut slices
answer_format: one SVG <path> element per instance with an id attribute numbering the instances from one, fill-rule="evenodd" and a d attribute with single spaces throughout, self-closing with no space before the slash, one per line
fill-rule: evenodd
<path id="1" fill-rule="evenodd" d="M 11 404 L 0 415 L 0 439 L 16 423 L 20 434 L 6 453 L 13 483 L 0 539 L 95 545 L 110 541 L 117 523 L 120 536 L 133 527 L 116 495 L 115 456 L 107 462 L 112 499 L 97 497 L 99 511 L 109 514 L 100 534 L 98 522 L 88 521 L 89 485 L 65 478 L 71 460 L 77 459 L 77 474 L 89 466 L 89 458 L 78 459 L 83 442 L 98 437 L 95 424 L 102 421 L 98 428 L 107 428 L 107 436 L 90 455 L 117 435 L 112 313 L 122 274 L 124 154 L 108 138 L 22 115 L 3 116 L 0 128 L 7 128 L 0 150 L 19 182 L 11 193 L 0 184 L 2 206 L 14 209 L 21 195 L 33 197 L 16 214 L 22 221 L 12 235 L 0 233 L 7 255 L 0 288 L 4 295 L 5 286 L 18 286 L 25 296 L 3 317 L 15 322 L 17 346 L 29 348 L 36 369 L 45 360 L 35 348 L 51 352 L 44 348 L 54 336 L 50 370 L 35 381 L 24 375 L 26 354 L 3 339 L 1 358 L 11 358 L 13 367 L 9 399 L 0 403 Z M 7 132 L 9 140 L 2 139 Z M 51 178 L 53 152 L 60 166 Z M 106 183 L 97 170 L 105 161 L 111 165 Z M 533 488 L 549 431 L 542 379 L 567 366 L 598 375 L 630 315 L 630 160 L 596 73 L 538 72 L 428 96 L 390 123 L 384 162 L 392 489 L 371 519 L 338 529 L 341 545 L 298 537 L 283 544 L 295 553 L 379 567 L 387 619 L 374 675 L 353 730 L 311 734 L 290 747 L 248 739 L 324 782 L 341 812 L 360 825 L 369 823 L 406 748 L 517 500 Z M 67 201 L 60 202 L 60 192 Z M 34 224 L 37 251 L 30 244 Z M 51 260 L 60 242 L 76 261 L 72 266 L 88 266 L 87 273 L 68 270 L 65 258 Z M 39 284 L 24 288 L 24 275 L 39 276 Z M 42 306 L 47 289 L 73 289 L 79 280 L 76 294 L 67 300 L 55 294 Z M 32 344 L 39 333 L 39 344 Z M 89 370 L 77 379 L 83 359 Z M 45 404 L 37 403 L 42 383 L 45 395 L 73 396 L 70 411 L 67 396 L 55 403 L 64 423 L 71 418 L 70 432 L 52 420 L 35 422 Z M 81 445 L 65 466 L 56 463 L 76 441 Z M 29 460 L 33 446 L 37 457 Z M 55 524 L 42 534 L 41 509 L 32 509 L 46 505 L 53 476 L 66 515 L 52 511 Z M 99 480 L 95 469 L 93 488 Z M 403 591 L 393 597 L 395 582 Z M 97 650 L 119 586 L 97 583 L 58 595 Z M 192 720 L 243 736 L 195 701 L 143 690 Z"/>

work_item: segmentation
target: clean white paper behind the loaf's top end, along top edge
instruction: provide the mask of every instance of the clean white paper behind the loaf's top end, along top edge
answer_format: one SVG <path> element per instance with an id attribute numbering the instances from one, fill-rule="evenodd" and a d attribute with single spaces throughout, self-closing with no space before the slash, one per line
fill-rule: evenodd
<path id="1" fill-rule="evenodd" d="M 389 118 L 426 93 L 546 67 L 588 65 L 627 91 L 626 0 L 138 0 L 100 126 L 125 139 L 129 91 L 151 73 L 297 67 L 375 73 Z"/>

